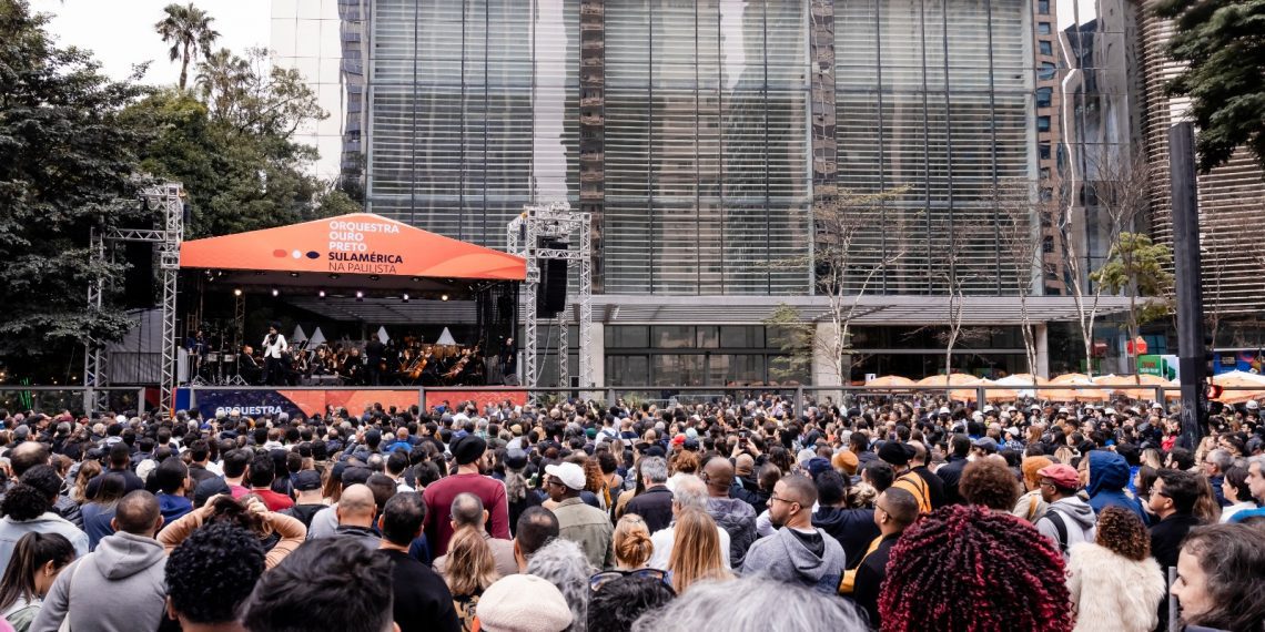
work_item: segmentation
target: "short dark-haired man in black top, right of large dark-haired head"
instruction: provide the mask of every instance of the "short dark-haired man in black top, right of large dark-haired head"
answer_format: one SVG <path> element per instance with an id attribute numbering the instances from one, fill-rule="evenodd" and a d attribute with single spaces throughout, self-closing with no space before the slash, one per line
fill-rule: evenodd
<path id="1" fill-rule="evenodd" d="M 378 555 L 391 562 L 392 618 L 400 632 L 458 632 L 462 624 L 448 584 L 409 556 L 409 546 L 421 537 L 425 521 L 426 502 L 410 492 L 391 497 L 378 518 Z"/>

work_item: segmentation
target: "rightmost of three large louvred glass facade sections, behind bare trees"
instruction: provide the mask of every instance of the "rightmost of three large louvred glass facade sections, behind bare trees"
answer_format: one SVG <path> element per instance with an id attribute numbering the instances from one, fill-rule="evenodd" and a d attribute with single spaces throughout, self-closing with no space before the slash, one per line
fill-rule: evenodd
<path id="1" fill-rule="evenodd" d="M 899 253 L 868 291 L 1017 293 L 993 200 L 994 185 L 1036 171 L 1030 11 L 1028 0 L 835 1 L 839 187 L 910 187 L 860 235 L 858 286 Z"/>

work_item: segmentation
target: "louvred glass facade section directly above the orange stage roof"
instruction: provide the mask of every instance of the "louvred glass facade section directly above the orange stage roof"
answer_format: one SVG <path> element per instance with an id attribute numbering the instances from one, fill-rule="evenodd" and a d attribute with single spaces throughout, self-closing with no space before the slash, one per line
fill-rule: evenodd
<path id="1" fill-rule="evenodd" d="M 578 0 L 379 0 L 372 33 L 369 211 L 503 249 L 577 204 Z"/>

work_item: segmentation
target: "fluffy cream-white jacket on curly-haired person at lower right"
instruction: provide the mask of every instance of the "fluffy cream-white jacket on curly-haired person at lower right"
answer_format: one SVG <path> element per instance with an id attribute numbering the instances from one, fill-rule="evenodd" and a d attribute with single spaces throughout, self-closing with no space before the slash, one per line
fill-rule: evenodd
<path id="1" fill-rule="evenodd" d="M 1069 554 L 1068 592 L 1077 617 L 1074 632 L 1149 632 L 1155 628 L 1168 585 L 1154 557 L 1130 560 L 1093 542 L 1073 545 Z"/>

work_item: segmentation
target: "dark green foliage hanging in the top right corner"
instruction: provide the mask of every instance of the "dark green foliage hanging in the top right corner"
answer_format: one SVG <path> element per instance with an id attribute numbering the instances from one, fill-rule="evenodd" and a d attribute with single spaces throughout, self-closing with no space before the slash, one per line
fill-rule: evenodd
<path id="1" fill-rule="evenodd" d="M 1185 68 L 1168 88 L 1190 97 L 1199 169 L 1243 145 L 1265 167 L 1265 1 L 1160 0 L 1155 13 L 1175 20 L 1169 54 Z"/>

